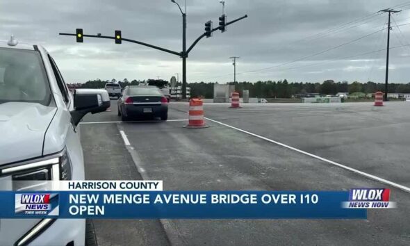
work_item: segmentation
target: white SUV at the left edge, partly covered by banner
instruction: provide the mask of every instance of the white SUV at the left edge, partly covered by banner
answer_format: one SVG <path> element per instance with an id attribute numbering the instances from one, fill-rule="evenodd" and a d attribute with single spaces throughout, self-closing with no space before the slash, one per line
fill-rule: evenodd
<path id="1" fill-rule="evenodd" d="M 38 46 L 0 42 L 0 190 L 44 190 L 19 181 L 83 180 L 79 127 L 110 106 L 106 90 L 72 95 Z M 13 167 L 13 168 L 10 168 Z M 0 245 L 85 245 L 85 220 L 0 219 Z"/>

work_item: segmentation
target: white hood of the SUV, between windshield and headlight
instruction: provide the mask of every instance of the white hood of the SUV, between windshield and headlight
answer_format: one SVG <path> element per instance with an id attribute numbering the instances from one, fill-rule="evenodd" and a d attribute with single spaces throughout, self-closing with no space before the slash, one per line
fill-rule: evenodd
<path id="1" fill-rule="evenodd" d="M 0 165 L 42 156 L 44 134 L 56 110 L 36 103 L 0 104 Z"/>

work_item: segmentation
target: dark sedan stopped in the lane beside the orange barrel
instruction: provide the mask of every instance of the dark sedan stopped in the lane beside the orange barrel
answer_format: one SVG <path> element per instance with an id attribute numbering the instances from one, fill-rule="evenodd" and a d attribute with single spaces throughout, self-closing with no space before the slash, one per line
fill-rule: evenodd
<path id="1" fill-rule="evenodd" d="M 139 117 L 168 118 L 168 100 L 156 86 L 126 86 L 118 99 L 122 121 Z"/>

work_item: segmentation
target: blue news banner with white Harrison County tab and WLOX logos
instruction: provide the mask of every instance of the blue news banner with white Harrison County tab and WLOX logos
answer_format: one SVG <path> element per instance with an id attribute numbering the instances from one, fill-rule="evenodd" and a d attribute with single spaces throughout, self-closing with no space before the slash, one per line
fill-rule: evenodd
<path id="1" fill-rule="evenodd" d="M 162 181 L 60 181 L 0 191 L 0 218 L 366 219 L 395 208 L 386 188 L 343 191 L 163 190 Z M 58 189 L 56 189 L 58 188 Z"/>

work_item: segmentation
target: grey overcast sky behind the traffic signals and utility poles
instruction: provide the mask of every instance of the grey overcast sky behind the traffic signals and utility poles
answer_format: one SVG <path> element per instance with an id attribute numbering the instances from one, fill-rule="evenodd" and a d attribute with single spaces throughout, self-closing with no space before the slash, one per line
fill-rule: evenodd
<path id="1" fill-rule="evenodd" d="M 183 8 L 184 1 L 179 3 Z M 206 21 L 218 25 L 222 4 L 219 0 L 186 0 L 186 5 L 189 46 L 204 32 Z M 226 0 L 228 21 L 245 14 L 249 17 L 197 44 L 188 58 L 188 82 L 233 81 L 230 56 L 240 56 L 237 81 L 384 82 L 386 50 L 356 55 L 386 49 L 387 14 L 372 14 L 393 6 L 403 11 L 393 15 L 395 22 L 392 19 L 391 47 L 398 48 L 391 49 L 389 81 L 409 83 L 410 46 L 400 47 L 410 43 L 410 1 L 405 0 Z M 341 26 L 362 17 L 366 19 Z M 58 33 L 83 28 L 85 34 L 114 35 L 117 29 L 122 30 L 123 38 L 179 52 L 181 19 L 170 0 L 1 0 L 0 40 L 13 33 L 20 42 L 42 44 L 67 83 L 157 76 L 169 80 L 181 74 L 179 56 L 105 39 L 84 38 L 81 44 Z M 327 49 L 331 50 L 321 53 Z M 314 54 L 318 55 L 311 56 Z"/>

